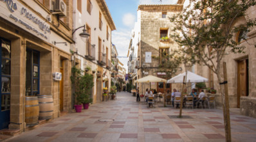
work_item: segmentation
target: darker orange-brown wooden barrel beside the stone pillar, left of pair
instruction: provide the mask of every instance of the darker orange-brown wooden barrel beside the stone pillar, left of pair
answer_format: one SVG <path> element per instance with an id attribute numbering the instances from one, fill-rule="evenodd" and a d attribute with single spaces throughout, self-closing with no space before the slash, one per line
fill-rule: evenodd
<path id="1" fill-rule="evenodd" d="M 39 117 L 39 103 L 36 96 L 26 96 L 25 122 L 27 126 L 37 125 Z"/>

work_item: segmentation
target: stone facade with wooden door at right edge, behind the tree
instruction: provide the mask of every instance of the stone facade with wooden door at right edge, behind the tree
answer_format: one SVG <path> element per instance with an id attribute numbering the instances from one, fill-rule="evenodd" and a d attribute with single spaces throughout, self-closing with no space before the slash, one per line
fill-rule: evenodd
<path id="1" fill-rule="evenodd" d="M 240 17 L 233 22 L 233 26 L 244 24 L 246 20 L 255 19 L 256 6 L 249 8 L 247 17 Z M 239 31 L 233 35 L 233 40 L 246 47 L 244 53 L 234 54 L 226 50 L 226 55 L 223 61 L 226 62 L 228 72 L 228 95 L 230 107 L 240 108 L 241 113 L 247 116 L 256 118 L 256 60 L 255 60 L 255 43 L 256 43 L 256 28 L 251 28 L 250 33 Z M 246 40 L 241 39 L 241 33 L 246 34 Z M 222 67 L 222 65 L 221 65 Z M 197 66 L 197 72 L 202 72 L 203 76 L 207 77 L 213 84 L 207 83 L 207 86 L 217 88 L 219 83 L 217 77 L 210 72 L 207 67 Z M 222 69 L 221 69 L 222 70 Z M 219 89 L 219 88 L 217 88 Z M 215 95 L 217 104 L 221 106 L 221 95 Z"/>

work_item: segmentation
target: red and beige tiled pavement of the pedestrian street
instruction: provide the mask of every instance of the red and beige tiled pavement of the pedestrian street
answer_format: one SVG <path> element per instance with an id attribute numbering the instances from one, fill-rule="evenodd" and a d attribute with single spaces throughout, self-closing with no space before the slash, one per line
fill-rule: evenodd
<path id="1" fill-rule="evenodd" d="M 69 113 L 6 141 L 225 141 L 220 109 L 147 108 L 131 93 Z M 169 117 L 170 116 L 170 117 Z M 231 113 L 232 141 L 256 141 L 256 119 Z M 100 119 L 114 121 L 99 122 Z"/>

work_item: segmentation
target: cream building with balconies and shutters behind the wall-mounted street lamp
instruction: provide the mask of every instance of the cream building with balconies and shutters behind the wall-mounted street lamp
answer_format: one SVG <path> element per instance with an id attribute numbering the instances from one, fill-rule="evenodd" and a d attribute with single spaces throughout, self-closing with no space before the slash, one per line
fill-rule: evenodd
<path id="1" fill-rule="evenodd" d="M 104 0 L 74 1 L 73 22 L 74 29 L 86 27 L 89 38 L 81 40 L 78 29 L 73 34 L 75 45 L 73 51 L 78 67 L 82 70 L 91 68 L 94 75 L 94 87 L 91 98 L 93 103 L 102 101 L 103 88 L 111 86 L 111 32 L 116 29 L 111 13 Z M 78 63 L 77 63 L 78 64 Z"/>

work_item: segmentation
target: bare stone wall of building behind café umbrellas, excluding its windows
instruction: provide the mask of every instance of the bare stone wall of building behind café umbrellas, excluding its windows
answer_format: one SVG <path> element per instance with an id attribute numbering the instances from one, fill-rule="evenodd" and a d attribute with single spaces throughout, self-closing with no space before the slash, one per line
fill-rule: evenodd
<path id="1" fill-rule="evenodd" d="M 140 56 L 141 68 L 139 75 L 140 77 L 145 77 L 146 75 L 157 76 L 158 67 L 160 65 L 159 49 L 169 49 L 169 52 L 171 52 L 172 49 L 178 47 L 172 39 L 168 42 L 160 41 L 160 29 L 167 29 L 167 35 L 170 35 L 172 23 L 168 17 L 178 12 L 179 6 L 139 6 L 139 10 L 141 10 L 141 41 L 139 47 L 140 53 L 138 54 L 138 56 Z M 167 18 L 162 18 L 162 12 L 167 12 Z M 151 63 L 145 63 L 145 52 L 151 52 Z M 143 72 L 148 74 L 144 74 Z M 149 87 L 147 83 L 144 83 L 144 86 L 140 86 L 143 90 Z M 156 89 L 157 83 L 152 83 L 151 88 Z"/>

